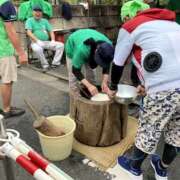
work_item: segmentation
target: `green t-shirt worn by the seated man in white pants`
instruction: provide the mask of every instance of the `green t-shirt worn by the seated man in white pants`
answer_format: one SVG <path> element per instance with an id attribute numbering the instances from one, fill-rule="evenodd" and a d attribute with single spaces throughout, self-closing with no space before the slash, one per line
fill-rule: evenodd
<path id="1" fill-rule="evenodd" d="M 39 20 L 34 17 L 29 18 L 26 21 L 25 28 L 31 30 L 32 33 L 40 40 L 49 40 L 49 32 L 52 31 L 52 26 L 48 20 L 41 18 Z"/>

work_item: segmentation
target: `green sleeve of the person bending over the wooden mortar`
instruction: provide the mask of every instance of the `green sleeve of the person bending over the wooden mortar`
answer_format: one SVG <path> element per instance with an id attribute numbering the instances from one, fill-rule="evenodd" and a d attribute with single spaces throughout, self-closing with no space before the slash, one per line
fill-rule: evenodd
<path id="1" fill-rule="evenodd" d="M 90 49 L 84 49 L 80 46 L 73 55 L 72 65 L 77 69 L 81 69 L 82 65 L 87 62 L 89 54 Z"/>

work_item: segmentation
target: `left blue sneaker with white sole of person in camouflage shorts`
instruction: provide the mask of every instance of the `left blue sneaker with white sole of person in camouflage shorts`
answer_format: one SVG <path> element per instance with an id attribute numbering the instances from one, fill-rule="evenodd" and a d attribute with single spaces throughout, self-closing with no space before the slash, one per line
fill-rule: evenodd
<path id="1" fill-rule="evenodd" d="M 125 156 L 118 157 L 118 164 L 123 171 L 125 171 L 132 180 L 143 180 L 141 169 L 134 169 L 131 167 L 132 160 Z"/>

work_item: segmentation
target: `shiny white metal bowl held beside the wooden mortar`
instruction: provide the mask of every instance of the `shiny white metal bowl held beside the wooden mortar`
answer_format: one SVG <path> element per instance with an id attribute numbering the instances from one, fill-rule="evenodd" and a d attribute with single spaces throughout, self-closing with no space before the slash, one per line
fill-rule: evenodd
<path id="1" fill-rule="evenodd" d="M 137 97 L 137 89 L 134 86 L 119 84 L 115 100 L 120 104 L 130 104 Z"/>

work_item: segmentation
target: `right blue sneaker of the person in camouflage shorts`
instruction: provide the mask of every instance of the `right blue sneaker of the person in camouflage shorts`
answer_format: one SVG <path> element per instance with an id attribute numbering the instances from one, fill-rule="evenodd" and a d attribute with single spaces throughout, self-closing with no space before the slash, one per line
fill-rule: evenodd
<path id="1" fill-rule="evenodd" d="M 168 180 L 167 169 L 160 166 L 161 159 L 158 155 L 151 156 L 151 166 L 154 169 L 156 180 Z"/>

